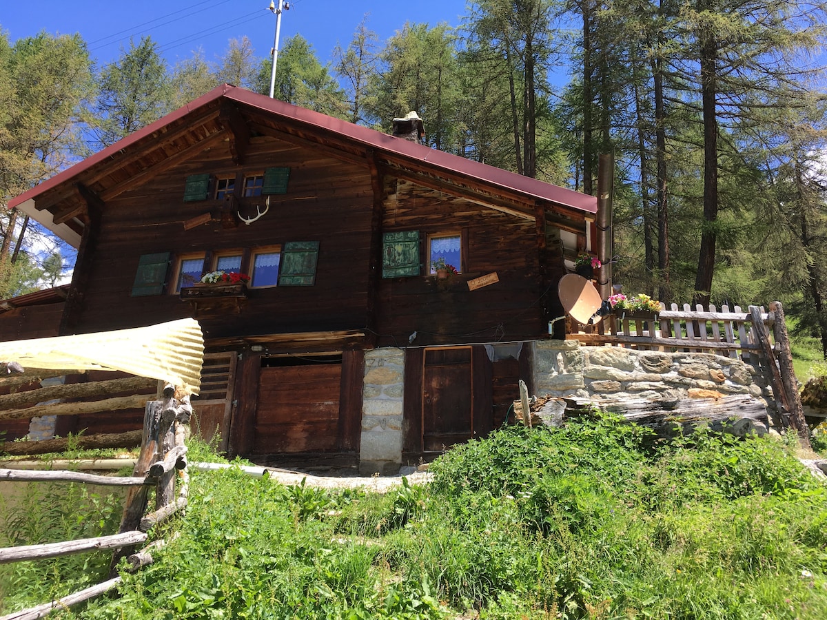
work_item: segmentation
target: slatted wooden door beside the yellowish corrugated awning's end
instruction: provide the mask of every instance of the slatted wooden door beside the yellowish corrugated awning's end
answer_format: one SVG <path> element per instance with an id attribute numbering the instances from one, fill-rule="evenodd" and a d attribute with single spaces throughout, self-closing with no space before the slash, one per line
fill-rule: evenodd
<path id="1" fill-rule="evenodd" d="M 218 435 L 218 449 L 227 451 L 230 438 L 230 417 L 235 403 L 237 353 L 208 353 L 201 368 L 201 389 L 192 398 L 193 432 L 203 441 Z"/>

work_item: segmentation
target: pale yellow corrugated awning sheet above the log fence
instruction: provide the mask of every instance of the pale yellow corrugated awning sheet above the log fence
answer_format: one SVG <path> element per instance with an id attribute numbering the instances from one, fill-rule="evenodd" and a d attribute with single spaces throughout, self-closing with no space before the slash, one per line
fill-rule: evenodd
<path id="1" fill-rule="evenodd" d="M 122 370 L 198 394 L 204 341 L 192 318 L 117 331 L 0 342 L 0 361 L 24 369 Z"/>

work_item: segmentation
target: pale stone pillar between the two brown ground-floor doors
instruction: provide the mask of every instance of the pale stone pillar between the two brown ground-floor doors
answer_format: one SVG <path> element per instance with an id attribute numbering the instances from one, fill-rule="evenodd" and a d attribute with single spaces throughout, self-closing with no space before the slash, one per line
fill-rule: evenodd
<path id="1" fill-rule="evenodd" d="M 362 386 L 361 475 L 395 474 L 402 462 L 402 394 L 405 354 L 399 349 L 365 352 Z"/>

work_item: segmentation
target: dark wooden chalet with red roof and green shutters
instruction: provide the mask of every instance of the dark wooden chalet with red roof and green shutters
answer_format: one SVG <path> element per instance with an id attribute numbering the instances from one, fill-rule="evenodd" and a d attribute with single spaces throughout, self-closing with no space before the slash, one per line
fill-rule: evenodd
<path id="1" fill-rule="evenodd" d="M 597 209 L 226 84 L 9 206 L 78 259 L 25 320 L 0 307 L 0 339 L 195 317 L 203 434 L 260 463 L 361 457 L 365 471 L 503 422 Z M 441 279 L 439 256 L 458 273 Z M 216 269 L 251 280 L 195 285 Z"/>

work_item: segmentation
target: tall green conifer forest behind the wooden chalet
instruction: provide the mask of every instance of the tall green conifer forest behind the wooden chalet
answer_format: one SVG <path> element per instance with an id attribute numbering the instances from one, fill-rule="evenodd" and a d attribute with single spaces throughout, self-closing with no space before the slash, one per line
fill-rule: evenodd
<path id="1" fill-rule="evenodd" d="M 596 193 L 613 153 L 614 282 L 665 303 L 784 302 L 827 359 L 827 2 L 483 0 L 461 26 L 368 19 L 327 62 L 280 45 L 275 97 Z M 246 37 L 168 64 L 150 36 L 98 64 L 79 35 L 0 23 L 0 206 L 208 92 L 270 88 Z M 561 68 L 567 79 L 561 81 Z M 54 285 L 71 248 L 0 209 L 0 298 Z"/>

